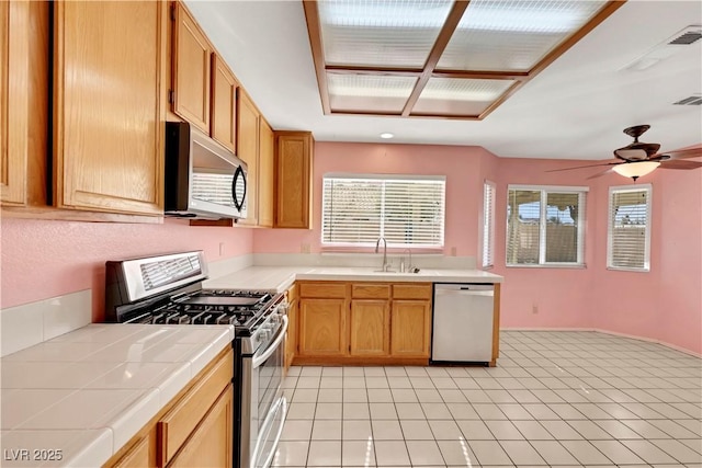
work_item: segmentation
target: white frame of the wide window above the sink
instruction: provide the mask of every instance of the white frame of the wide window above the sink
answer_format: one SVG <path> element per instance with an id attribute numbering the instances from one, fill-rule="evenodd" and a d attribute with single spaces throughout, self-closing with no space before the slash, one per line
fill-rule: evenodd
<path id="1" fill-rule="evenodd" d="M 407 243 L 392 243 L 388 244 L 388 249 L 410 249 L 412 251 L 421 252 L 442 252 L 445 247 L 446 235 L 446 176 L 433 175 L 433 174 L 373 174 L 373 173 L 347 173 L 347 172 L 329 172 L 321 176 L 321 206 L 320 206 L 320 247 L 321 250 L 341 250 L 341 251 L 358 251 L 365 249 L 374 249 L 375 243 L 366 242 L 327 242 L 325 241 L 325 206 L 326 206 L 326 191 L 325 182 L 328 179 L 348 179 L 358 181 L 434 181 L 443 183 L 443 196 L 442 196 L 442 219 L 441 219 L 441 240 L 438 244 L 407 244 Z M 385 238 L 383 229 L 385 228 L 385 190 L 383 189 L 383 205 L 381 208 L 381 232 L 380 237 Z"/>

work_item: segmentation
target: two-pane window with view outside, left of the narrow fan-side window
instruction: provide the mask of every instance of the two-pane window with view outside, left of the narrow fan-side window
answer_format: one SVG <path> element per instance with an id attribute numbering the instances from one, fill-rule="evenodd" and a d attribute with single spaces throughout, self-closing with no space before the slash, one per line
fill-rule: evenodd
<path id="1" fill-rule="evenodd" d="M 508 189 L 507 265 L 584 265 L 588 187 Z"/>

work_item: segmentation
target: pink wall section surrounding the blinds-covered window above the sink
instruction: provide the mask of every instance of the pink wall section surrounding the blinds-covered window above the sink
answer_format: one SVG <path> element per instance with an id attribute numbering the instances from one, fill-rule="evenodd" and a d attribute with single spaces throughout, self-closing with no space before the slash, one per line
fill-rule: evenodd
<path id="1" fill-rule="evenodd" d="M 302 244 L 312 252 L 320 251 L 321 178 L 328 172 L 375 174 L 428 174 L 446 176 L 445 253 L 456 249 L 456 255 L 476 255 L 483 186 L 480 161 L 494 158 L 480 147 L 431 145 L 315 144 L 313 224 L 312 230 L 258 230 L 253 237 L 254 252 L 298 253 Z M 482 189 L 480 189 L 482 190 Z M 392 246 L 388 247 L 390 249 Z"/>

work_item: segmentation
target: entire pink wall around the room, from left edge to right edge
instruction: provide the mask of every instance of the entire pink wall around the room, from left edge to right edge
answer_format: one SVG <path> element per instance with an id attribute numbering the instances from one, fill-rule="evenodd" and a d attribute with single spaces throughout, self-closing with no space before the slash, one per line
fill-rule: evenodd
<path id="1" fill-rule="evenodd" d="M 458 255 L 479 255 L 483 181 L 497 184 L 492 271 L 505 276 L 502 327 L 599 328 L 702 354 L 700 171 L 657 170 L 641 179 L 654 191 L 652 271 L 632 273 L 605 267 L 608 189 L 631 182 L 616 174 L 587 180 L 597 169 L 545 172 L 579 162 L 496 158 L 478 147 L 318 142 L 312 230 L 191 228 L 180 220 L 120 225 L 3 218 L 0 304 L 11 307 L 92 288 L 93 319 L 99 321 L 105 260 L 203 249 L 215 261 L 250 252 L 299 252 L 304 243 L 318 252 L 324 173 L 445 174 L 446 253 L 455 247 Z M 508 184 L 590 186 L 586 269 L 505 267 Z"/>

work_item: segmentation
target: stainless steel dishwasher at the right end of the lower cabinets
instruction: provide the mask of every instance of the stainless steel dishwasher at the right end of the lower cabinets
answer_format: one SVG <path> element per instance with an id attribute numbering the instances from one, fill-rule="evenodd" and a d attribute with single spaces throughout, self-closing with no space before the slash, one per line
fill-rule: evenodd
<path id="1" fill-rule="evenodd" d="M 434 284 L 432 363 L 492 359 L 491 284 Z"/>

